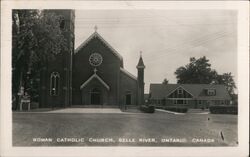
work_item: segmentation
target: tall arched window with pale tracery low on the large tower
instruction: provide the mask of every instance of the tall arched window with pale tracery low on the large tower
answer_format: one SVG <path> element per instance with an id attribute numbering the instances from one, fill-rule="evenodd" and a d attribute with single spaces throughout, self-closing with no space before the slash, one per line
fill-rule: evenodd
<path id="1" fill-rule="evenodd" d="M 59 94 L 60 75 L 58 72 L 52 72 L 50 75 L 50 95 L 57 96 Z"/>

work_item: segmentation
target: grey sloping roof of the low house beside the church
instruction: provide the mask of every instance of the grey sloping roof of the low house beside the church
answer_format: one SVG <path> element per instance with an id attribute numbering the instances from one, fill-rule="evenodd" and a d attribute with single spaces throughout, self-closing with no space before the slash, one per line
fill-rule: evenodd
<path id="1" fill-rule="evenodd" d="M 189 92 L 194 99 L 216 100 L 230 99 L 224 85 L 211 84 L 150 84 L 150 94 L 152 99 L 163 99 L 174 92 L 179 87 Z M 215 96 L 207 96 L 204 89 L 216 89 Z"/>

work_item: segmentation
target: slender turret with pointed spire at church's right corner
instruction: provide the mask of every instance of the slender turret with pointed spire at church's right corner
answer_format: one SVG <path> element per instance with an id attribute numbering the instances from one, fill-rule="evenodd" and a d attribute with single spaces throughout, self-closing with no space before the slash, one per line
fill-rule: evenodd
<path id="1" fill-rule="evenodd" d="M 145 65 L 142 60 L 142 52 L 140 52 L 140 59 L 136 66 L 137 68 L 137 82 L 138 82 L 138 105 L 144 105 L 144 69 Z"/>

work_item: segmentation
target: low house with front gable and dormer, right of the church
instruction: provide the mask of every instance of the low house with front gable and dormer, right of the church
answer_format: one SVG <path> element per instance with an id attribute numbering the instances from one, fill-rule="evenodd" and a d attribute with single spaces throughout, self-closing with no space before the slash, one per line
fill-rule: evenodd
<path id="1" fill-rule="evenodd" d="M 148 101 L 155 106 L 187 106 L 208 108 L 229 105 L 231 97 L 224 85 L 150 84 Z"/>

